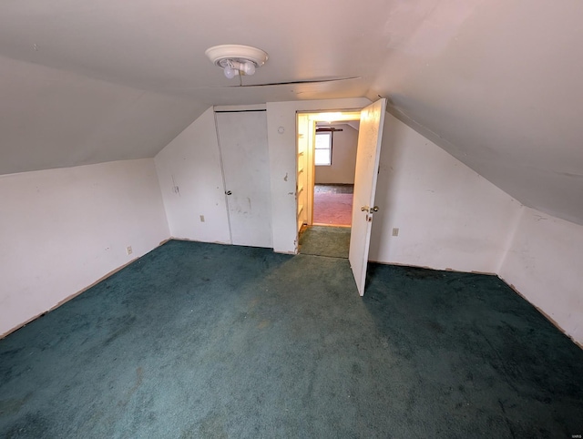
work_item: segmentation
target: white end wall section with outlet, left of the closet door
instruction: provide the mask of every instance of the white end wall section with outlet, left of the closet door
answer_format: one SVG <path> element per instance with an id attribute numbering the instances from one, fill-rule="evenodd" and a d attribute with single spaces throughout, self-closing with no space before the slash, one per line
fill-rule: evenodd
<path id="1" fill-rule="evenodd" d="M 162 149 L 155 162 L 170 235 L 230 243 L 213 108 Z"/>

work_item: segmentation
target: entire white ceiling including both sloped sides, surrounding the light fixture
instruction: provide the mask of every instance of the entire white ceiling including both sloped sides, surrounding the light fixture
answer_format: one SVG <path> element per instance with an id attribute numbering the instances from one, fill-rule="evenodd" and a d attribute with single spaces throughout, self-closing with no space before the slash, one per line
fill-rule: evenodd
<path id="1" fill-rule="evenodd" d="M 583 224 L 580 0 L 0 3 L 0 174 L 153 157 L 211 105 L 387 97 L 524 204 Z M 204 56 L 270 59 L 236 84 Z"/>

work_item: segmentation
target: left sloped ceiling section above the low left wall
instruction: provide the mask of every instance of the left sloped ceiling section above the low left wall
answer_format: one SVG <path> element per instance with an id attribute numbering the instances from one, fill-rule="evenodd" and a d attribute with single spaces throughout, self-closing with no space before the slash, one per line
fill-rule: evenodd
<path id="1" fill-rule="evenodd" d="M 0 174 L 153 157 L 207 107 L 5 57 L 0 66 Z"/>

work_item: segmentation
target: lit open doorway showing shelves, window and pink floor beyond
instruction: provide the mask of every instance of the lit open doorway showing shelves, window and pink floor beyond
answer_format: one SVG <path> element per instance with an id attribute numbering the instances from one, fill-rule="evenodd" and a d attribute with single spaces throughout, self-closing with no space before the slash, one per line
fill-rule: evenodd
<path id="1" fill-rule="evenodd" d="M 300 252 L 348 258 L 360 111 L 298 113 Z"/>

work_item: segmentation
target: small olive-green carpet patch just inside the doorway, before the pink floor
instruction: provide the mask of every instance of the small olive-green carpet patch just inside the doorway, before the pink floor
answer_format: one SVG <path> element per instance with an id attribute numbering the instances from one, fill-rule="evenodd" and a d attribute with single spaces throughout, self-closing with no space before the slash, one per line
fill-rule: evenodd
<path id="1" fill-rule="evenodd" d="M 348 258 L 350 227 L 310 226 L 300 236 L 300 253 Z"/>

